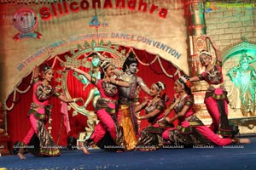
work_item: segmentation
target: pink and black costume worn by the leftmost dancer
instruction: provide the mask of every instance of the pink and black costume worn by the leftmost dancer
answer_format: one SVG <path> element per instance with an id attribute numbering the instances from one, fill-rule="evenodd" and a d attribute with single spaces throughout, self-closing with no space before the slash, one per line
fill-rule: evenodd
<path id="1" fill-rule="evenodd" d="M 36 82 L 33 86 L 32 104 L 28 112 L 32 127 L 23 139 L 23 143 L 34 156 L 61 155 L 45 127 L 52 106 L 49 104 L 49 99 L 51 96 L 59 95 L 55 88 L 44 85 L 43 82 Z"/>

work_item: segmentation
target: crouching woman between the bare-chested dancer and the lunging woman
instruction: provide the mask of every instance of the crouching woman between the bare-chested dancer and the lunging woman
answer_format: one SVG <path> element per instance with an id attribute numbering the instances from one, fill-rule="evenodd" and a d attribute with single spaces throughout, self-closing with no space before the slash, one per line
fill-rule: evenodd
<path id="1" fill-rule="evenodd" d="M 166 110 L 166 84 L 163 82 L 156 82 L 152 84 L 150 88 L 150 95 L 153 97 L 147 104 L 147 99 L 143 101 L 141 105 L 137 105 L 135 112 L 143 109 L 145 106 L 146 115 L 137 116 L 138 120 L 148 119 L 151 123 L 148 127 L 145 127 L 139 134 L 137 140 L 137 148 L 139 150 L 156 150 L 163 145 L 162 133 L 167 127 L 171 127 L 170 123 L 160 123 L 160 120 L 167 116 L 164 111 Z"/>

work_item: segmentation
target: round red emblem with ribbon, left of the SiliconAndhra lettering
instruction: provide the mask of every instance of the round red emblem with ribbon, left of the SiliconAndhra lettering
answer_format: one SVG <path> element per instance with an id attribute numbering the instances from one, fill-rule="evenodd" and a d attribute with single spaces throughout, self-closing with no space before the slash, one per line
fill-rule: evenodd
<path id="1" fill-rule="evenodd" d="M 19 31 L 14 37 L 16 41 L 22 38 L 40 38 L 42 35 L 33 31 L 38 26 L 37 13 L 31 8 L 20 8 L 15 12 L 13 25 Z"/>

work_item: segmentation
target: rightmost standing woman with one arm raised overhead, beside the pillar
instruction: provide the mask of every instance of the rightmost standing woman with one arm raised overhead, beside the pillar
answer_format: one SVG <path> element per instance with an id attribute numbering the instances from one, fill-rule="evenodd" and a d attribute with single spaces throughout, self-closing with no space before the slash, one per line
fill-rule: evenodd
<path id="1" fill-rule="evenodd" d="M 208 51 L 201 51 L 199 57 L 201 65 L 206 70 L 196 77 L 190 77 L 189 82 L 205 80 L 209 83 L 209 88 L 205 96 L 205 105 L 207 111 L 212 117 L 211 129 L 222 137 L 230 137 L 230 123 L 228 120 L 228 98 L 227 91 L 224 88 L 224 77 L 222 74 L 222 59 L 218 46 L 212 42 L 211 37 L 202 35 L 203 38 L 209 39 L 212 48 L 215 51 L 216 61 L 213 61 L 212 55 Z"/>

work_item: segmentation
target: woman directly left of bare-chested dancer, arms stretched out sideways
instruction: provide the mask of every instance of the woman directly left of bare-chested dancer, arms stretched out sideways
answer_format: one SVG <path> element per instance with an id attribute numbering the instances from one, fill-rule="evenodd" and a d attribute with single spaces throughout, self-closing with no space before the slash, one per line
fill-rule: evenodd
<path id="1" fill-rule="evenodd" d="M 116 104 L 118 99 L 118 86 L 129 87 L 129 82 L 114 79 L 114 66 L 104 60 L 101 64 L 102 79 L 91 77 L 89 73 L 66 66 L 66 70 L 71 69 L 84 75 L 91 83 L 98 88 L 101 98 L 96 102 L 96 115 L 100 122 L 96 125 L 90 138 L 85 140 L 84 145 L 80 144 L 80 149 L 84 154 L 90 154 L 87 147 L 96 144 L 104 150 L 122 150 L 124 139 L 121 128 L 116 118 Z"/>

